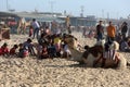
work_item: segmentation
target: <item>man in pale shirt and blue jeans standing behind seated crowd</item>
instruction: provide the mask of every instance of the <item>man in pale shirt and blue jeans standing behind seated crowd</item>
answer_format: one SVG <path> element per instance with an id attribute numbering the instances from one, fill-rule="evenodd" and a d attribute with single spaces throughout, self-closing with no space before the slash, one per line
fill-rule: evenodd
<path id="1" fill-rule="evenodd" d="M 35 35 L 37 34 L 37 39 L 38 39 L 38 38 L 39 38 L 40 25 L 39 25 L 39 23 L 36 21 L 36 18 L 32 18 L 31 26 L 32 26 L 32 28 L 34 28 L 34 37 L 32 37 L 32 38 L 35 38 Z"/>

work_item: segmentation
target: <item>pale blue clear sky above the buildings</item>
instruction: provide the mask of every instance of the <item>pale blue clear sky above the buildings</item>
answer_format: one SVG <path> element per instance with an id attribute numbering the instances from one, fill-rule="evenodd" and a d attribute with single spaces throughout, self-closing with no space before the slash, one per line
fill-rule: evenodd
<path id="1" fill-rule="evenodd" d="M 81 7 L 83 16 L 119 18 L 130 14 L 130 0 L 0 0 L 0 11 L 6 11 L 6 1 L 10 9 L 15 11 L 60 12 L 80 16 Z"/>

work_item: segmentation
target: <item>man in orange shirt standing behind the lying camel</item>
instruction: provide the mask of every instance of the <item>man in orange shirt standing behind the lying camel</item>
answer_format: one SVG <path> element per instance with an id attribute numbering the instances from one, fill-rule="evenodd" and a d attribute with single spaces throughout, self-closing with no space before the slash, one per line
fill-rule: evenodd
<path id="1" fill-rule="evenodd" d="M 109 25 L 107 26 L 106 32 L 107 32 L 108 42 L 113 42 L 115 40 L 115 36 L 116 36 L 116 28 L 112 24 L 112 22 L 109 22 Z"/>

